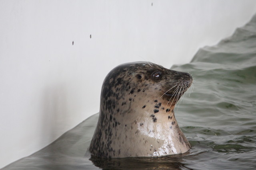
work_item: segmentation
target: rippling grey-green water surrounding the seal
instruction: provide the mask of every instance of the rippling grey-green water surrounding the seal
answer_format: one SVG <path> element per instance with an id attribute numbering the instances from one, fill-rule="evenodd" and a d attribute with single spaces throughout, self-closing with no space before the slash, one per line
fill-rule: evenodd
<path id="1" fill-rule="evenodd" d="M 256 169 L 256 16 L 232 37 L 200 49 L 191 63 L 172 69 L 194 78 L 193 93 L 175 111 L 192 144 L 190 152 L 162 158 L 90 158 L 86 150 L 96 114 L 3 169 Z"/>

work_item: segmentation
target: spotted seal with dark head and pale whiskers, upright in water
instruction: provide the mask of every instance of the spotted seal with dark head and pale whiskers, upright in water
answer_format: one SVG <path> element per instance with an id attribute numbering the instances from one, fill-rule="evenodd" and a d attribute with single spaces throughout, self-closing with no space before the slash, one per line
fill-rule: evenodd
<path id="1" fill-rule="evenodd" d="M 165 156 L 187 152 L 174 106 L 192 84 L 185 72 L 154 63 L 121 64 L 106 76 L 89 151 L 106 158 Z"/>

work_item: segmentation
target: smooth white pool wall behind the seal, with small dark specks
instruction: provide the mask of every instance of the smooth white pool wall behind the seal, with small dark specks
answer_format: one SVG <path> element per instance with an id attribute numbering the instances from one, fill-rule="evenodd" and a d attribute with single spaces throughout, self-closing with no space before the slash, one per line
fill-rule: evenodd
<path id="1" fill-rule="evenodd" d="M 98 112 L 116 65 L 188 63 L 255 12 L 254 0 L 0 0 L 0 168 Z"/>

